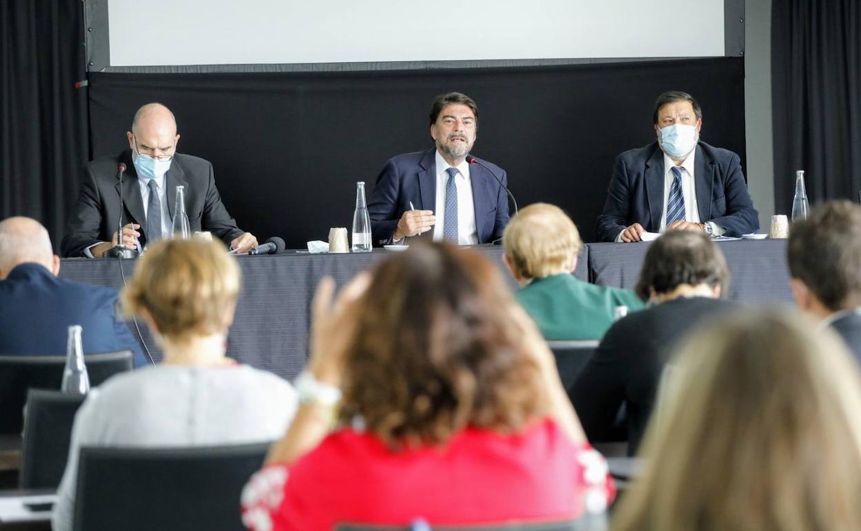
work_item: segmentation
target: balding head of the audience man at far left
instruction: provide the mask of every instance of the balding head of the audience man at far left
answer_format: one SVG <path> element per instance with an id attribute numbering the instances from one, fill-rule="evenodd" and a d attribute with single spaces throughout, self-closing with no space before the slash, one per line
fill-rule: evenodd
<path id="1" fill-rule="evenodd" d="M 0 221 L 0 280 L 22 263 L 44 266 L 59 273 L 59 256 L 53 254 L 51 238 L 35 219 L 15 216 Z"/>

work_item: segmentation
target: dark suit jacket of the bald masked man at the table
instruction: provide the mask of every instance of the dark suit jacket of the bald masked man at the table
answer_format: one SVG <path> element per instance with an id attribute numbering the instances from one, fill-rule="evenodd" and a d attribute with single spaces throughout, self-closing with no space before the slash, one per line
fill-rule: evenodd
<path id="1" fill-rule="evenodd" d="M 140 196 L 138 174 L 132 164 L 132 151 L 127 150 L 116 157 L 102 157 L 87 164 L 77 205 L 72 210 L 60 244 L 63 256 L 84 256 L 87 247 L 100 241 L 109 242 L 116 232 L 120 213 L 120 182 L 116 173 L 121 162 L 127 168 L 122 183 L 122 222 L 123 225 L 140 225 L 140 244 L 146 245 L 144 202 Z M 215 188 L 213 165 L 207 160 L 177 153 L 164 179 L 171 218 L 177 201 L 175 187 L 183 185 L 185 212 L 192 231 L 212 232 L 226 244 L 242 234 L 221 203 L 218 188 Z"/>

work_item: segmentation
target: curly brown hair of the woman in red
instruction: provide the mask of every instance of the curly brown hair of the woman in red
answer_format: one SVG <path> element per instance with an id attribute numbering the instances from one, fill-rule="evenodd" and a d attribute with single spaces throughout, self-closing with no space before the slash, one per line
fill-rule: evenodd
<path id="1" fill-rule="evenodd" d="M 468 426 L 516 432 L 545 412 L 516 303 L 479 253 L 418 244 L 379 263 L 344 364 L 344 422 L 389 448 L 442 444 Z"/>

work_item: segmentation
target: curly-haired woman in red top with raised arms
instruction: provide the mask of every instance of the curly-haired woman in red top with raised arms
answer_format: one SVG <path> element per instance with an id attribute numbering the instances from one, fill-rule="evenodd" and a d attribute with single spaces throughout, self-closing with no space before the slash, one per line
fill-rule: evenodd
<path id="1" fill-rule="evenodd" d="M 334 306 L 333 291 L 325 279 L 314 299 L 299 411 L 243 492 L 248 528 L 604 509 L 614 495 L 604 459 L 546 343 L 484 257 L 418 244 L 356 277 Z"/>

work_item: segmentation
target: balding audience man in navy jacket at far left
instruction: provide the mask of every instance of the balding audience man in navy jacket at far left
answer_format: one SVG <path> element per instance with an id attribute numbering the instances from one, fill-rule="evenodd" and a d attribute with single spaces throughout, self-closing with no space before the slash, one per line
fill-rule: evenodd
<path id="1" fill-rule="evenodd" d="M 117 315 L 116 290 L 58 274 L 45 227 L 22 217 L 0 221 L 0 355 L 65 355 L 68 327 L 80 324 L 84 354 L 130 349 L 134 365 L 146 365 Z"/>

